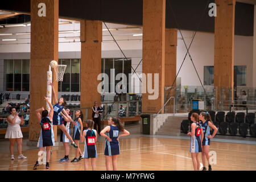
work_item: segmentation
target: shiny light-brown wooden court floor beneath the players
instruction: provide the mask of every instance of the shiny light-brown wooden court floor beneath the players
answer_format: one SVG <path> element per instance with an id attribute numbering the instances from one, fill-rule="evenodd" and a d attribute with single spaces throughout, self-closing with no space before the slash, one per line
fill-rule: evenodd
<path id="1" fill-rule="evenodd" d="M 120 139 L 119 142 L 121 154 L 117 161 L 118 170 L 193 170 L 191 154 L 189 153 L 190 140 L 138 137 Z M 80 144 L 80 148 L 83 152 L 84 144 Z M 210 151 L 216 152 L 216 164 L 212 165 L 213 170 L 256 170 L 256 145 L 211 142 Z M 97 152 L 97 170 L 106 170 L 104 142 L 97 142 Z M 18 160 L 17 152 L 15 152 L 15 160 L 10 160 L 9 153 L 0 154 L 0 170 L 32 171 L 37 160 L 38 150 L 23 151 L 23 154 L 27 156 L 27 159 Z M 70 146 L 69 162 L 60 163 L 59 159 L 64 157 L 64 147 L 53 147 L 49 163 L 50 168 L 46 169 L 45 165 L 42 164 L 38 170 L 84 170 L 82 160 L 76 163 L 70 162 L 74 156 L 75 148 Z"/>

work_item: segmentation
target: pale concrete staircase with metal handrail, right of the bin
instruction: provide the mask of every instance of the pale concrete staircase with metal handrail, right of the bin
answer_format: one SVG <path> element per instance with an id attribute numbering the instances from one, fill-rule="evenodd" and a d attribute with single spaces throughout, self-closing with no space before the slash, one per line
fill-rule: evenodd
<path id="1" fill-rule="evenodd" d="M 160 127 L 160 129 L 155 133 L 156 135 L 171 135 L 180 136 L 180 123 L 188 117 L 174 117 L 169 116 L 166 122 Z"/>

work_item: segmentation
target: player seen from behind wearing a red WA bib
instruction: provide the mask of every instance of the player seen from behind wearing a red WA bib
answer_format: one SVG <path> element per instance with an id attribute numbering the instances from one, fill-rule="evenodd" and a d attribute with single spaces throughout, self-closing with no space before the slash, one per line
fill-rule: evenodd
<path id="1" fill-rule="evenodd" d="M 97 142 L 97 131 L 93 130 L 94 122 L 89 119 L 86 121 L 87 129 L 82 132 L 81 142 L 84 142 L 84 153 L 82 154 L 84 158 L 84 169 L 88 171 L 88 163 L 89 158 L 91 159 L 92 163 L 92 170 L 96 170 L 96 158 L 97 158 L 97 149 L 96 149 L 96 142 Z"/>

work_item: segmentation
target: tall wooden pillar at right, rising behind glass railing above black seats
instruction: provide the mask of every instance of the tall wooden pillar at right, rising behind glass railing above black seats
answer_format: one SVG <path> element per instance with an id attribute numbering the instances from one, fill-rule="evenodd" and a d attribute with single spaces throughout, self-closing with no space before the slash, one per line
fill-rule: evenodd
<path id="1" fill-rule="evenodd" d="M 214 30 L 214 86 L 216 87 L 216 104 L 221 100 L 233 100 L 234 86 L 234 15 L 235 0 L 215 0 L 217 16 Z"/>

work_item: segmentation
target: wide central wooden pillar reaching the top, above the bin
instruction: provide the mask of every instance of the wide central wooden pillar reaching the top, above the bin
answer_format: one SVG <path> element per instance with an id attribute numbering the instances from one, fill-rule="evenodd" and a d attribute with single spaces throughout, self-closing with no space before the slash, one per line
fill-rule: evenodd
<path id="1" fill-rule="evenodd" d="M 164 47 L 166 30 L 166 1 L 165 0 L 143 0 L 143 46 L 142 46 L 142 73 L 147 79 L 142 78 L 143 85 L 146 84 L 146 93 L 142 93 L 142 113 L 158 113 L 164 105 Z M 152 74 L 152 89 L 150 93 Z M 154 79 L 158 73 L 159 78 Z M 147 83 L 145 82 L 147 80 Z M 155 82 L 158 82 L 155 88 Z M 158 90 L 158 93 L 156 93 Z M 156 98 L 154 98 L 154 97 Z M 162 110 L 163 112 L 164 110 Z"/>

